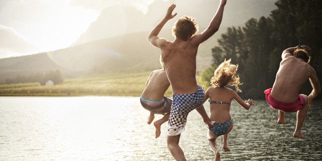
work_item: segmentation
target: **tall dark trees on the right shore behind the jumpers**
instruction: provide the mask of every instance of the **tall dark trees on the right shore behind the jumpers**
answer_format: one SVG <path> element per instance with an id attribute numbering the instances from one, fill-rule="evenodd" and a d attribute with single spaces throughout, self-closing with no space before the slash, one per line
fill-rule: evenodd
<path id="1" fill-rule="evenodd" d="M 310 65 L 322 85 L 322 3 L 319 0 L 279 0 L 269 17 L 251 18 L 244 27 L 230 27 L 212 49 L 212 67 L 205 70 L 203 80 L 224 59 L 238 64 L 237 73 L 244 83 L 240 86 L 245 98 L 263 99 L 264 90 L 271 88 L 281 61 L 281 53 L 289 47 L 307 45 L 312 51 Z M 309 94 L 309 81 L 301 93 Z M 321 98 L 321 94 L 318 96 Z"/>

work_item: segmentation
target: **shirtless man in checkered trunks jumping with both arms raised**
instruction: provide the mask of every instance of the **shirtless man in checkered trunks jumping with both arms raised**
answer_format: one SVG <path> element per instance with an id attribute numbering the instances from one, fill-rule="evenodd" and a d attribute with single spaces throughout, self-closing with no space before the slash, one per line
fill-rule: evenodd
<path id="1" fill-rule="evenodd" d="M 198 47 L 216 31 L 222 22 L 226 0 L 220 1 L 219 7 L 209 27 L 200 34 L 196 34 L 197 27 L 193 18 L 184 16 L 173 27 L 174 41 L 168 42 L 157 35 L 163 26 L 177 13 L 172 14 L 175 5 L 171 5 L 157 26 L 149 35 L 150 43 L 159 48 L 165 69 L 171 83 L 173 102 L 168 122 L 167 145 L 170 153 L 176 160 L 186 160 L 183 150 L 179 147 L 180 133 L 185 130 L 187 116 L 190 111 L 202 105 L 205 98 L 203 88 L 196 81 L 196 55 Z M 197 108 L 204 122 L 211 123 L 205 108 Z M 206 114 L 206 116 L 204 115 Z"/>

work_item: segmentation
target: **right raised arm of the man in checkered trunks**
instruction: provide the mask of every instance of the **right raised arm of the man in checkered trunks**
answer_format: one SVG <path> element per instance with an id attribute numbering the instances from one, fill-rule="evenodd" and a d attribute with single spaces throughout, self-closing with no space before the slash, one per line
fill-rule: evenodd
<path id="1" fill-rule="evenodd" d="M 194 35 L 191 39 L 191 43 L 194 45 L 199 45 L 205 42 L 209 37 L 211 37 L 215 32 L 218 31 L 220 24 L 222 23 L 224 7 L 226 5 L 227 0 L 221 0 L 219 7 L 216 11 L 216 14 L 212 18 L 209 26 L 202 33 Z"/>

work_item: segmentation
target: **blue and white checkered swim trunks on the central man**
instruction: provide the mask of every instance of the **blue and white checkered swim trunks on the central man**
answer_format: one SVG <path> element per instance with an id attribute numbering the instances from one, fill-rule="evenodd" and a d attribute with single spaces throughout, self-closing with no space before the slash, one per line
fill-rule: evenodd
<path id="1" fill-rule="evenodd" d="M 168 122 L 168 136 L 175 136 L 185 131 L 189 112 L 203 104 L 205 92 L 198 85 L 198 89 L 192 94 L 173 94 L 172 107 Z"/>

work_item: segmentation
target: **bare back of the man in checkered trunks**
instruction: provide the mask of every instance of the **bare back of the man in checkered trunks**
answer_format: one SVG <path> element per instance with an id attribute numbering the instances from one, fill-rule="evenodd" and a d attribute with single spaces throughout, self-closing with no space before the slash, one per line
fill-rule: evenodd
<path id="1" fill-rule="evenodd" d="M 173 94 L 190 94 L 197 91 L 196 55 L 198 46 L 190 41 L 165 43 L 160 48 Z"/>

